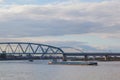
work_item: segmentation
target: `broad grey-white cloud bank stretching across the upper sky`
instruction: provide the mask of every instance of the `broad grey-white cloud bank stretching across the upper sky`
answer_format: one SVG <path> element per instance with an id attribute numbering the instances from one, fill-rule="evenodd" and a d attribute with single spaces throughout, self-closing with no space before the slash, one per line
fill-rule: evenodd
<path id="1" fill-rule="evenodd" d="M 0 37 L 119 34 L 119 0 L 9 5 L 0 8 Z M 112 35 L 114 37 L 116 35 Z"/>

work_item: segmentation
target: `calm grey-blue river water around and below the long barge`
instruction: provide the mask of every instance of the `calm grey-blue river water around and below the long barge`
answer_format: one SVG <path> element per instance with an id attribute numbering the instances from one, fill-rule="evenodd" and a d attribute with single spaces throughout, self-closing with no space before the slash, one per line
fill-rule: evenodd
<path id="1" fill-rule="evenodd" d="M 0 61 L 0 80 L 120 80 L 120 62 L 98 62 L 98 66 L 47 62 Z"/>

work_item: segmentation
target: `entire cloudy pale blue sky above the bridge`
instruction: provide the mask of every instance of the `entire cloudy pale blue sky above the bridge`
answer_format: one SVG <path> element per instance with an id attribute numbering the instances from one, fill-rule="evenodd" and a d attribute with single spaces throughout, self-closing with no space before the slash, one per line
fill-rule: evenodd
<path id="1" fill-rule="evenodd" d="M 0 42 L 120 52 L 120 0 L 0 0 Z"/>

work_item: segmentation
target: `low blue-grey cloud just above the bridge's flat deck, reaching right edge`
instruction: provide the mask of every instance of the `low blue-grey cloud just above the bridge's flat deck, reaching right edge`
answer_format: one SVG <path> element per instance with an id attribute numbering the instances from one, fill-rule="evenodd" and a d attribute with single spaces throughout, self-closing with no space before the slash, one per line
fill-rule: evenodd
<path id="1" fill-rule="evenodd" d="M 69 52 L 120 52 L 119 46 L 104 46 L 95 47 L 94 45 L 89 45 L 87 42 L 80 41 L 46 41 L 45 44 L 61 47 L 64 51 Z"/>

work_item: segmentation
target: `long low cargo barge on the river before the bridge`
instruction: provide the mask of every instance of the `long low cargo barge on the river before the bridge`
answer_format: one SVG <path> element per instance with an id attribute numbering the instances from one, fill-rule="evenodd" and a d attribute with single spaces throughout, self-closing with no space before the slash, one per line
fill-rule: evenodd
<path id="1" fill-rule="evenodd" d="M 95 61 L 50 61 L 53 65 L 98 65 Z"/>

